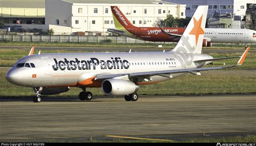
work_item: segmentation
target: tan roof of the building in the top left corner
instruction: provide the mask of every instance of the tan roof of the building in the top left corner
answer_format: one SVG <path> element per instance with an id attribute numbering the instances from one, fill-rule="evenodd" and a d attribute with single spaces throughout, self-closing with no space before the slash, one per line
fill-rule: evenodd
<path id="1" fill-rule="evenodd" d="M 45 0 L 0 0 L 0 8 L 45 8 Z"/>

